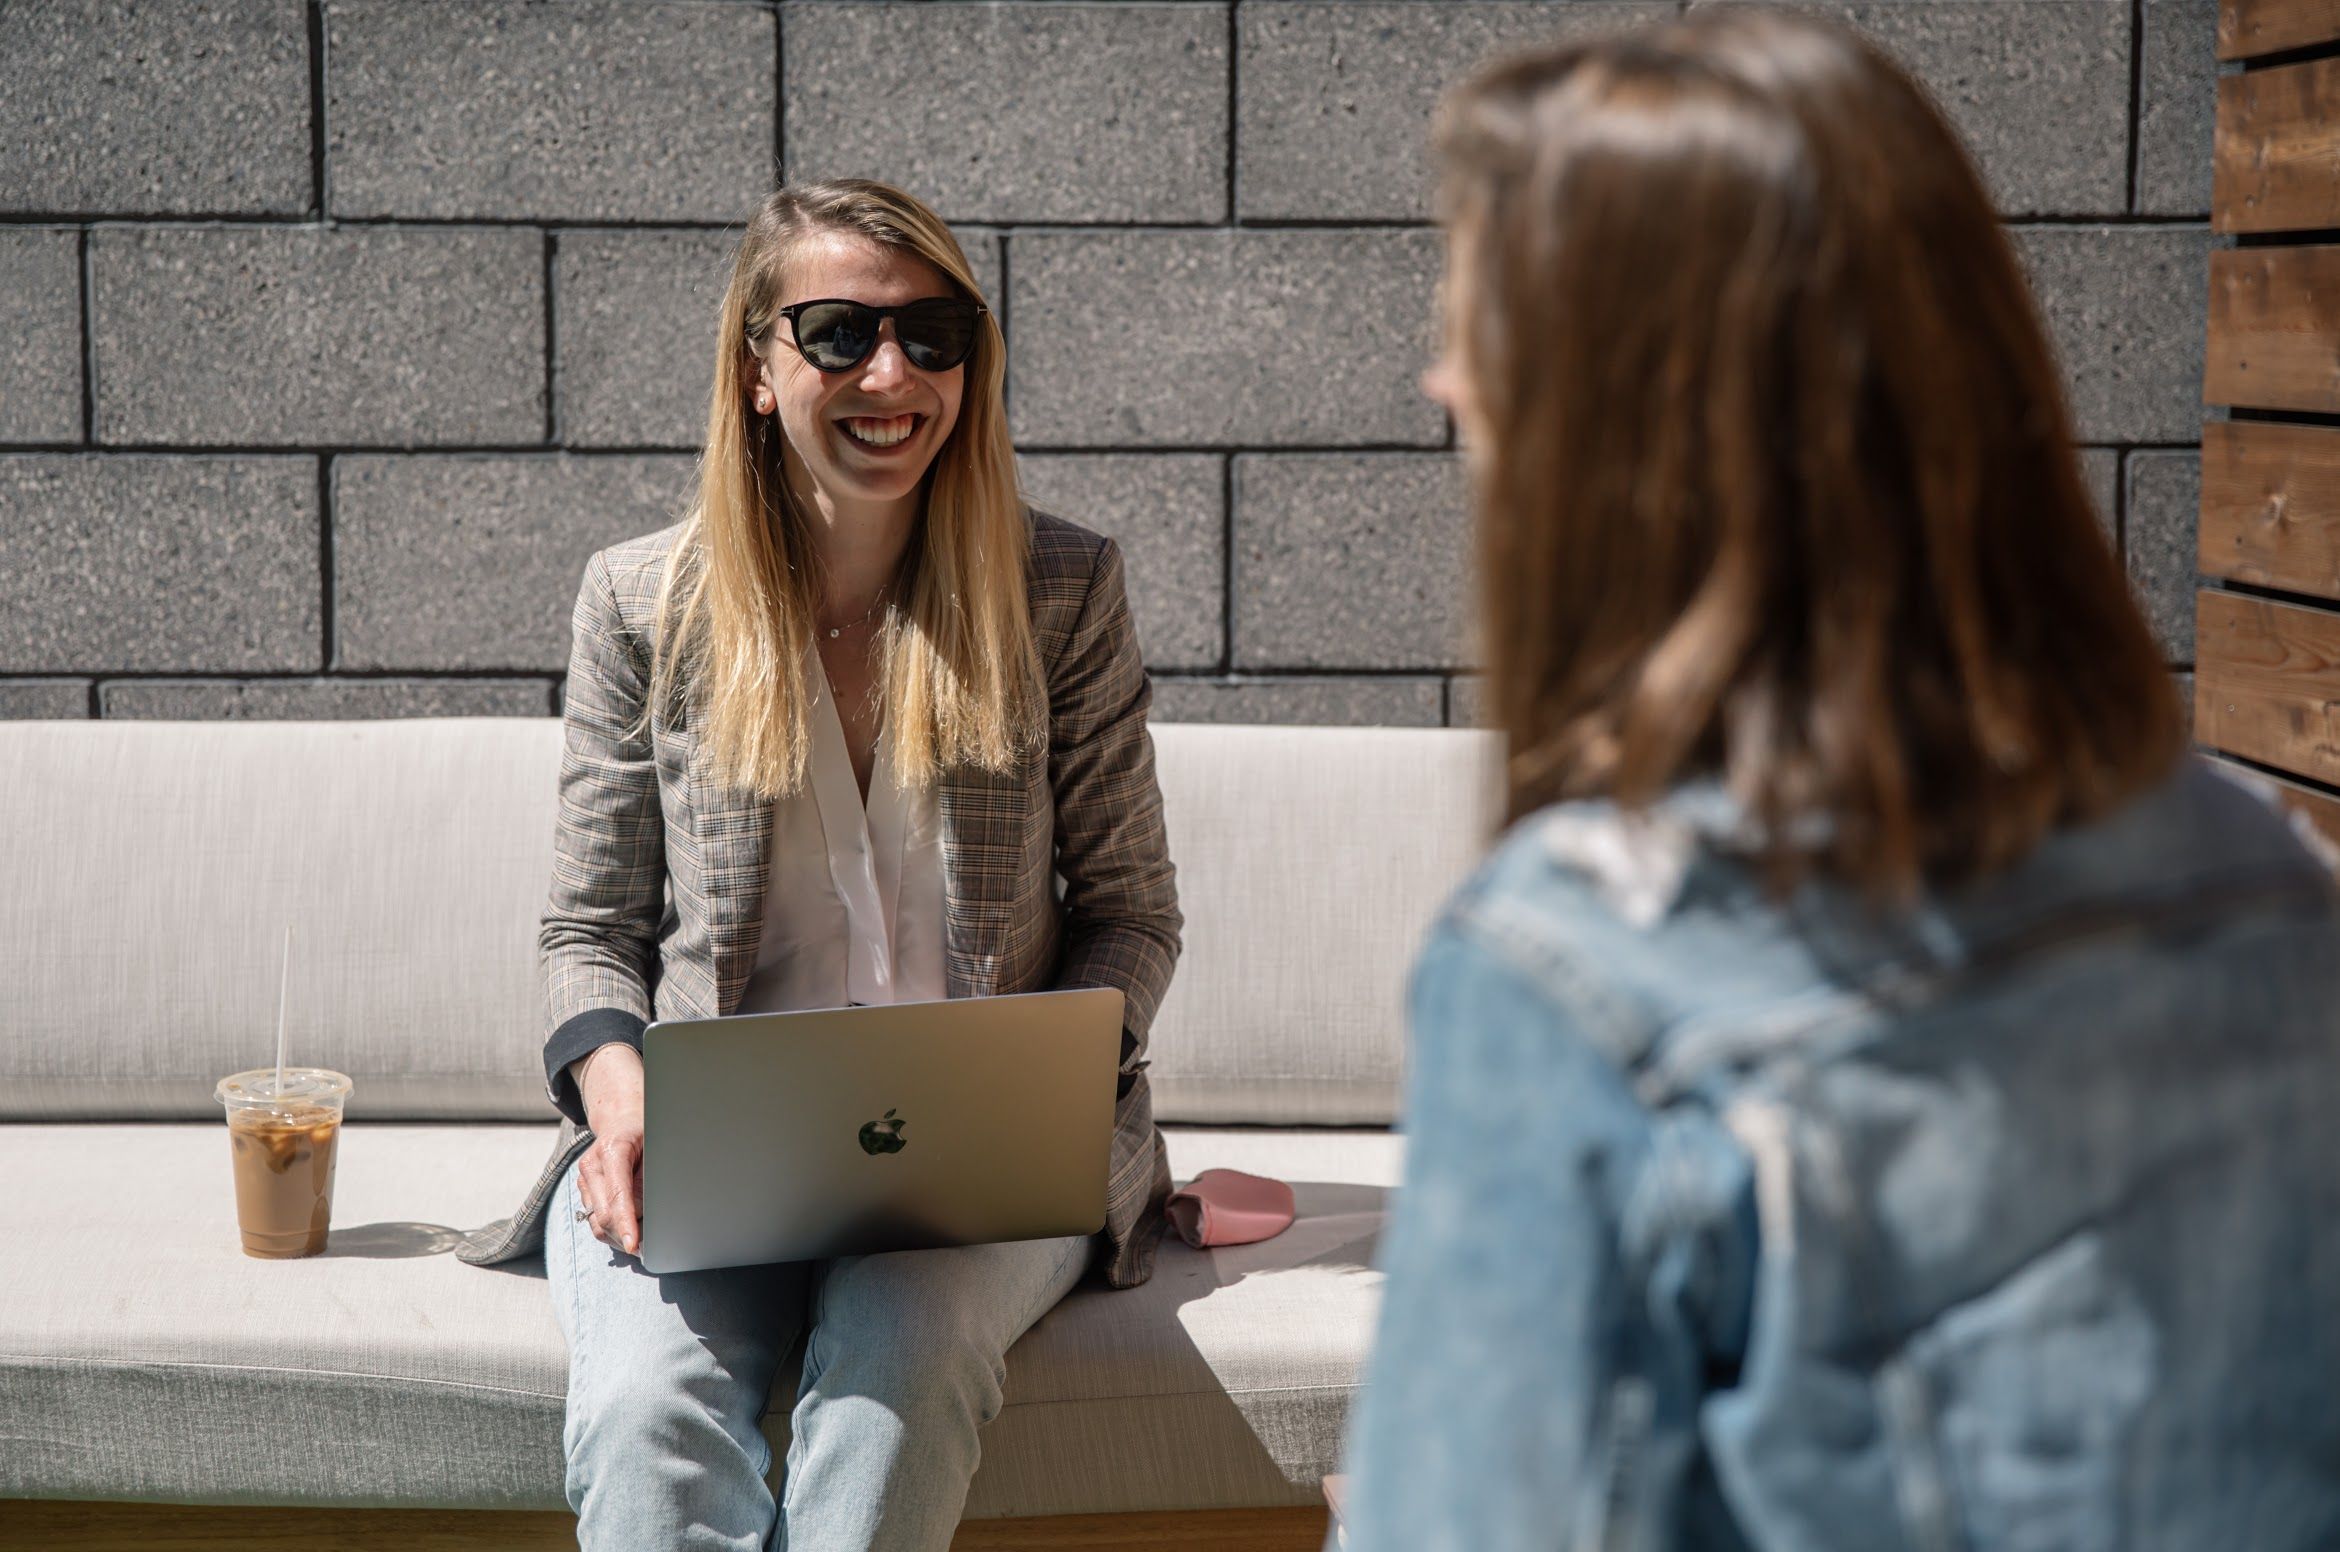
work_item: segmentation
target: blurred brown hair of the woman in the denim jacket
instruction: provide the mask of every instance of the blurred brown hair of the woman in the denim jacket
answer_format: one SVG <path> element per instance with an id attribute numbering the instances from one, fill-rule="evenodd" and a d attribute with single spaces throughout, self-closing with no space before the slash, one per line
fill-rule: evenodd
<path id="1" fill-rule="evenodd" d="M 1505 824 L 1720 775 L 1776 890 L 1905 901 L 2172 768 L 2040 316 L 1891 59 L 1720 5 L 1498 61 L 1434 143 Z"/>

